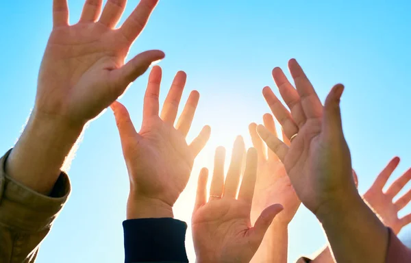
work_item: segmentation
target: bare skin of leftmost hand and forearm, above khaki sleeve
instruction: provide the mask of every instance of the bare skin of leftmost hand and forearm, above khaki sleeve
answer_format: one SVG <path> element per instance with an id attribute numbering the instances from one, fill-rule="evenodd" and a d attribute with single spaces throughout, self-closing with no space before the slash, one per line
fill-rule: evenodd
<path id="1" fill-rule="evenodd" d="M 113 103 L 162 51 L 146 51 L 125 63 L 157 0 L 142 0 L 114 29 L 126 0 L 87 0 L 79 22 L 69 25 L 66 0 L 53 0 L 53 31 L 40 66 L 36 101 L 10 154 L 8 176 L 48 195 L 86 123 Z M 100 16 L 101 14 L 101 16 Z"/>

